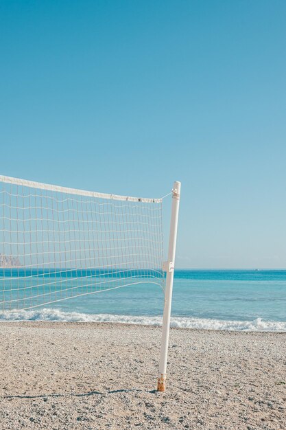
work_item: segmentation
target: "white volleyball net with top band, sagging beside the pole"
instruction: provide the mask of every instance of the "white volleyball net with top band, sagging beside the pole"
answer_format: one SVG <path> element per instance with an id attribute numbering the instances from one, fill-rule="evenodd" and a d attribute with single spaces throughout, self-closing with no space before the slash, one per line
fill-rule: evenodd
<path id="1" fill-rule="evenodd" d="M 162 200 L 0 177 L 0 308 L 164 286 Z"/>

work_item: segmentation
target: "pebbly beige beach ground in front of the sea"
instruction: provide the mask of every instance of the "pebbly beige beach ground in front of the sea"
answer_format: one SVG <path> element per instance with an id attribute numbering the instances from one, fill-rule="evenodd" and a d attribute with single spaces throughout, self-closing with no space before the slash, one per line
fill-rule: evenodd
<path id="1" fill-rule="evenodd" d="M 286 333 L 0 324 L 0 429 L 286 429 Z"/>

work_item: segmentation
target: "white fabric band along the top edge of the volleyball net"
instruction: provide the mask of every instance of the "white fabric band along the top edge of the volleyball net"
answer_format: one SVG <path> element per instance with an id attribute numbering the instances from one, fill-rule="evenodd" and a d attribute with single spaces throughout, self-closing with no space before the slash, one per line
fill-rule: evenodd
<path id="1" fill-rule="evenodd" d="M 26 179 L 12 178 L 12 177 L 3 176 L 3 175 L 0 175 L 0 182 L 11 183 L 13 185 L 21 185 L 23 187 L 28 187 L 28 188 L 38 188 L 40 190 L 62 192 L 64 194 L 77 194 L 80 196 L 95 197 L 96 199 L 110 199 L 110 200 L 132 201 L 132 202 L 142 202 L 142 203 L 161 203 L 162 202 L 162 199 L 146 199 L 143 197 L 119 196 L 118 194 L 106 194 L 103 192 L 77 190 L 75 188 L 60 187 L 58 185 L 51 185 L 49 183 L 27 181 Z"/>

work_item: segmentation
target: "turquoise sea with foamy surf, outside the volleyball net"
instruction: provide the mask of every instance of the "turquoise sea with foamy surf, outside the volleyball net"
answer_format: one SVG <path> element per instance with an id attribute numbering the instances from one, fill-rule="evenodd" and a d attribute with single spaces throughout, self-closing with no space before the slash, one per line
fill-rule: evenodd
<path id="1" fill-rule="evenodd" d="M 102 321 L 162 324 L 164 293 L 154 284 L 124 286 L 29 310 L 0 310 L 0 321 Z M 285 270 L 176 270 L 171 326 L 286 331 Z"/>

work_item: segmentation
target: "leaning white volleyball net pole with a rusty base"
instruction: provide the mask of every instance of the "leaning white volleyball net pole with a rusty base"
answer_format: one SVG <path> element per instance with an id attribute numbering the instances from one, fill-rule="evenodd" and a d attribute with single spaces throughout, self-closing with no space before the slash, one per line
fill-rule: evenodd
<path id="1" fill-rule="evenodd" d="M 159 376 L 157 390 L 165 392 L 166 390 L 166 372 L 167 372 L 167 354 L 169 345 L 169 330 L 170 330 L 170 317 L 171 317 L 171 297 L 173 293 L 173 280 L 174 280 L 174 264 L 176 255 L 176 241 L 178 231 L 178 215 L 180 205 L 180 182 L 174 182 L 172 190 L 172 205 L 171 205 L 171 225 L 169 234 L 169 251 L 167 261 L 167 276 L 166 276 L 166 289 L 165 289 L 165 304 L 163 313 L 163 327 L 160 347 L 160 362 L 159 362 Z"/>

